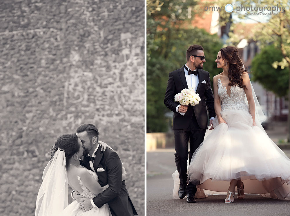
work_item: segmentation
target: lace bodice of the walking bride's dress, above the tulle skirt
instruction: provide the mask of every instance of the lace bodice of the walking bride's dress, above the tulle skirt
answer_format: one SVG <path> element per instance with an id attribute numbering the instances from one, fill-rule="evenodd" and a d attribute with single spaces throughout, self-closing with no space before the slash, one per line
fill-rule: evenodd
<path id="1" fill-rule="evenodd" d="M 218 96 L 222 102 L 222 110 L 244 110 L 249 112 L 249 107 L 245 102 L 245 91 L 240 86 L 229 86 L 231 95 L 226 92 L 226 86 L 218 78 Z"/>

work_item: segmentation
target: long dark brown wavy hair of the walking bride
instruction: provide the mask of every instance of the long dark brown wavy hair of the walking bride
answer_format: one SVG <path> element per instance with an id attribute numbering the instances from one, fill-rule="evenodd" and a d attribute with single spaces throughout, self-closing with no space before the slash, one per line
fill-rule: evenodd
<path id="1" fill-rule="evenodd" d="M 242 73 L 247 69 L 244 67 L 244 63 L 240 58 L 240 53 L 236 47 L 224 47 L 220 49 L 222 58 L 229 64 L 229 86 L 239 85 L 241 88 L 246 88 L 243 85 Z"/>

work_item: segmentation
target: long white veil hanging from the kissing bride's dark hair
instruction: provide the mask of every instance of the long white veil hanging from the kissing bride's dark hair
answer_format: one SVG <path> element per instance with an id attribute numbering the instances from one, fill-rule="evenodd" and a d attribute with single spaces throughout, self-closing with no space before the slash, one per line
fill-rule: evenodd
<path id="1" fill-rule="evenodd" d="M 46 165 L 38 191 L 35 216 L 55 216 L 68 206 L 65 152 L 57 149 Z"/>

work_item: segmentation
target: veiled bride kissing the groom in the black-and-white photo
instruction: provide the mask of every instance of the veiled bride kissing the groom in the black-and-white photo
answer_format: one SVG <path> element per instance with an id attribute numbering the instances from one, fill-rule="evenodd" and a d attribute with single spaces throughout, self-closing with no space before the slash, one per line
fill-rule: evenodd
<path id="1" fill-rule="evenodd" d="M 97 174 L 80 165 L 79 158 L 83 155 L 83 148 L 77 135 L 59 136 L 51 154 L 51 159 L 43 172 L 35 215 L 111 216 L 108 204 L 101 208 L 93 207 L 86 212 L 80 209 L 80 204 L 76 200 L 68 206 L 68 184 L 90 199 L 108 187 L 108 185 L 101 187 Z"/>

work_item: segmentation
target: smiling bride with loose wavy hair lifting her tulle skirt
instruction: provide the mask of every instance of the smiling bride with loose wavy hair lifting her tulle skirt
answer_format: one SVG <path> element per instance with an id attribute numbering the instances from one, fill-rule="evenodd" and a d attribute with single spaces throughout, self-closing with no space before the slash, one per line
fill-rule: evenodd
<path id="1" fill-rule="evenodd" d="M 216 117 L 193 154 L 189 181 L 228 192 L 225 203 L 234 202 L 235 187 L 238 199 L 245 193 L 289 199 L 290 159 L 262 128 L 264 115 L 238 49 L 220 49 L 215 62 L 223 69 L 213 77 Z"/>

